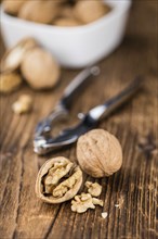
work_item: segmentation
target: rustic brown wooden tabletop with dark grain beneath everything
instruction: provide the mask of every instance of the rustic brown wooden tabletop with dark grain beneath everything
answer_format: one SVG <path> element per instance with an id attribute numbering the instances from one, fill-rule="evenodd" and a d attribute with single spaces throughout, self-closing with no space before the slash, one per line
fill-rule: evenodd
<path id="1" fill-rule="evenodd" d="M 63 70 L 61 84 L 52 91 L 34 92 L 24 86 L 10 96 L 1 96 L 0 238 L 158 237 L 158 161 L 154 150 L 158 131 L 157 10 L 157 0 L 134 1 L 122 45 L 100 63 L 101 75 L 74 103 L 71 111 L 74 122 L 77 112 L 87 112 L 103 102 L 137 74 L 146 78 L 144 88 L 131 102 L 100 124 L 101 128 L 115 134 L 123 148 L 121 169 L 97 180 L 103 185 L 103 209 L 97 206 L 95 211 L 76 214 L 70 211 L 69 202 L 50 205 L 35 196 L 37 173 L 47 159 L 56 155 L 76 159 L 76 146 L 44 158 L 36 155 L 32 133 L 37 122 L 55 105 L 64 87 L 78 72 Z M 11 104 L 24 92 L 32 96 L 34 111 L 28 115 L 14 115 Z M 142 138 L 146 142 L 142 143 Z M 116 203 L 120 207 L 115 207 Z M 103 211 L 108 213 L 105 219 L 101 217 Z"/>

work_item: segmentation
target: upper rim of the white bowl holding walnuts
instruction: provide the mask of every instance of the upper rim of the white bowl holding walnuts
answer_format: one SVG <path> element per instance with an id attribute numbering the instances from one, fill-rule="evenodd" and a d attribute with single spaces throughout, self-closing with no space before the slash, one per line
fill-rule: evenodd
<path id="1" fill-rule="evenodd" d="M 117 14 L 120 15 L 127 12 L 132 4 L 132 0 L 126 0 L 126 1 L 104 0 L 104 2 L 111 7 L 111 11 L 107 15 L 102 16 L 101 18 L 85 25 L 68 27 L 68 26 L 55 26 L 55 25 L 30 22 L 27 20 L 19 18 L 17 16 L 9 15 L 8 13 L 4 12 L 2 4 L 0 5 L 1 23 L 5 22 L 5 23 L 10 23 L 10 25 L 21 24 L 23 25 L 23 27 L 31 27 L 40 30 L 42 27 L 42 30 L 49 30 L 49 32 L 54 30 L 56 33 L 67 33 L 67 34 L 76 33 L 76 32 L 83 33 L 83 32 L 92 30 L 96 26 L 100 26 L 102 24 L 104 25 L 108 24 L 110 21 L 114 20 L 114 17 L 116 17 Z"/>

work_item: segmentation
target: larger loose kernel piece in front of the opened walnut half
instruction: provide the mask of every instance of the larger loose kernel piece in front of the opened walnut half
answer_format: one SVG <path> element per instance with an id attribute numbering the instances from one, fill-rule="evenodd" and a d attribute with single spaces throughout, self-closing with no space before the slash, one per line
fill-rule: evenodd
<path id="1" fill-rule="evenodd" d="M 95 209 L 95 204 L 103 206 L 103 201 L 92 198 L 90 193 L 82 192 L 71 200 L 71 211 L 77 213 L 84 213 L 88 209 Z"/>

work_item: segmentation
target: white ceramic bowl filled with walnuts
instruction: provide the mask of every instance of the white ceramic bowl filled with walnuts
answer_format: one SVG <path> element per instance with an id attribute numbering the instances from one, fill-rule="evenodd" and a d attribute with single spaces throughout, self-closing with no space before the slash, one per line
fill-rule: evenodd
<path id="1" fill-rule="evenodd" d="M 114 51 L 122 40 L 131 0 L 108 0 L 113 10 L 84 26 L 58 27 L 10 16 L 1 9 L 1 30 L 6 47 L 35 37 L 66 67 L 91 65 Z"/>

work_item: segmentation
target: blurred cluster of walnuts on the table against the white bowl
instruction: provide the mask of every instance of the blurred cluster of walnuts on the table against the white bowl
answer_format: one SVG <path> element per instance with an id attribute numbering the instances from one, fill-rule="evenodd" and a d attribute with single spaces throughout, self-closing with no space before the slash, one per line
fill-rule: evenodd
<path id="1" fill-rule="evenodd" d="M 32 89 L 50 89 L 60 76 L 61 66 L 53 55 L 34 38 L 25 38 L 9 49 L 1 60 L 0 92 L 14 91 L 23 79 Z"/>

